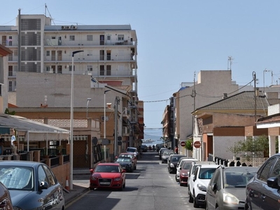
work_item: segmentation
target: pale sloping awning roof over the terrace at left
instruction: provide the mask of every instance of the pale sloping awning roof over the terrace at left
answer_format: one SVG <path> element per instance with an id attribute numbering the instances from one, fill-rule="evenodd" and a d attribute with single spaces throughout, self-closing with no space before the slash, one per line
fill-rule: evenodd
<path id="1" fill-rule="evenodd" d="M 20 116 L 10 116 L 8 114 L 0 114 L 0 127 L 9 127 L 18 131 L 31 133 L 69 134 L 70 132 L 69 130 L 59 127 L 37 123 L 27 118 Z"/>

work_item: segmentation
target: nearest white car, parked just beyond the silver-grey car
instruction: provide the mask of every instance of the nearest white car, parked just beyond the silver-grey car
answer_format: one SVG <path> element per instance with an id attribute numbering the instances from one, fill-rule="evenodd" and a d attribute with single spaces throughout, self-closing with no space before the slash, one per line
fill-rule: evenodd
<path id="1" fill-rule="evenodd" d="M 207 187 L 218 165 L 195 165 L 195 171 L 188 179 L 188 202 L 193 203 L 193 207 L 197 208 L 205 205 Z"/>

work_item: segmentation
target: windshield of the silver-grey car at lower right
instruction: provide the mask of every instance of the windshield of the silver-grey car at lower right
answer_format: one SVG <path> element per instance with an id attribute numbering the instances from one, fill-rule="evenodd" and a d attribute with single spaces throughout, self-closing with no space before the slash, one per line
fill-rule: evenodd
<path id="1" fill-rule="evenodd" d="M 243 170 L 242 170 L 243 171 Z M 246 188 L 246 184 L 255 176 L 256 171 L 225 172 L 225 188 Z"/>

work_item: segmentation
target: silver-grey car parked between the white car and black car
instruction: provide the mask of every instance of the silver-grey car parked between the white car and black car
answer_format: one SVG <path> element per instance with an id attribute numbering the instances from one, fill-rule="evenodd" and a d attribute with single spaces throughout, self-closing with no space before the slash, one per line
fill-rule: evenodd
<path id="1" fill-rule="evenodd" d="M 207 187 L 206 209 L 244 209 L 246 184 L 258 169 L 258 167 L 219 166 Z"/>

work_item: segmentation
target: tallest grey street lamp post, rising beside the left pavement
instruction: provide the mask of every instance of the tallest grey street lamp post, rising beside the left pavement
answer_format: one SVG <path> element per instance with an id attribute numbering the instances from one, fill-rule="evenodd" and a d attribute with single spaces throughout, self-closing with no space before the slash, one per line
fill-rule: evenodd
<path id="1" fill-rule="evenodd" d="M 70 113 L 70 177 L 69 188 L 73 190 L 73 71 L 74 71 L 74 55 L 83 50 L 72 52 L 72 66 L 71 66 L 71 113 Z"/>

